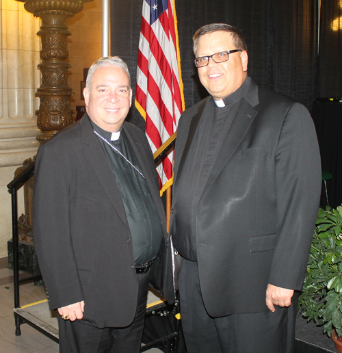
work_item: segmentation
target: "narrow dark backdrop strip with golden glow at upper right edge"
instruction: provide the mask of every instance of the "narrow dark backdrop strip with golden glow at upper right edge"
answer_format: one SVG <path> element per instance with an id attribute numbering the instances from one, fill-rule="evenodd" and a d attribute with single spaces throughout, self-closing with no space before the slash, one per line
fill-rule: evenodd
<path id="1" fill-rule="evenodd" d="M 319 96 L 342 96 L 342 1 L 321 1 Z"/>

